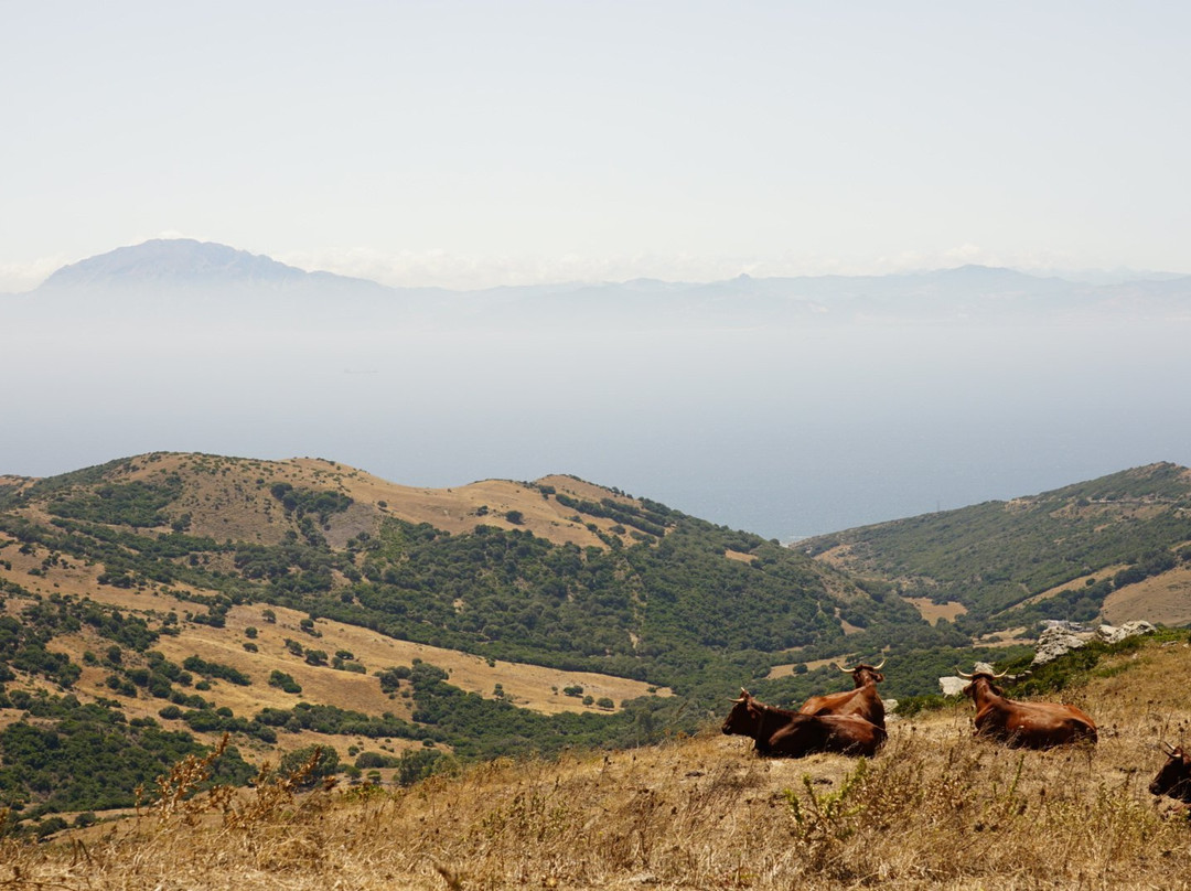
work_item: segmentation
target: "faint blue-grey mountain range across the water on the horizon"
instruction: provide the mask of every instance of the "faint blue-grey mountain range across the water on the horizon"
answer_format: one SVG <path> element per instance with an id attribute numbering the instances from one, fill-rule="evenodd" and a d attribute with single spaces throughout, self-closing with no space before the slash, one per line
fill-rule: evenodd
<path id="1" fill-rule="evenodd" d="M 177 295 L 177 299 L 172 299 Z M 220 301 L 235 317 L 306 318 L 317 325 L 754 328 L 894 322 L 1078 318 L 1191 319 L 1191 276 L 1091 285 L 1012 269 L 964 266 L 902 275 L 625 282 L 451 292 L 393 288 L 304 272 L 269 257 L 193 239 L 155 239 L 66 266 L 5 298 L 36 319 L 166 317 Z M 61 312 L 63 309 L 70 312 Z M 297 311 L 297 313 L 294 312 Z M 86 320 L 86 319 L 85 319 Z M 92 322 L 95 319 L 92 318 Z"/>

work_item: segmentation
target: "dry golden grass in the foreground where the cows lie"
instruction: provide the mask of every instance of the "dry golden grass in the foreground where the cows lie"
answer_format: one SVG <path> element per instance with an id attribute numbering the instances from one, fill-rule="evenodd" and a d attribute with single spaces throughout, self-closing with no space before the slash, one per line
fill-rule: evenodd
<path id="1" fill-rule="evenodd" d="M 15 889 L 1189 889 L 1191 824 L 1146 786 L 1191 742 L 1191 648 L 1061 697 L 1095 748 L 975 741 L 971 706 L 891 723 L 871 761 L 761 760 L 741 737 L 498 761 L 405 790 L 182 800 L 0 850 Z"/>

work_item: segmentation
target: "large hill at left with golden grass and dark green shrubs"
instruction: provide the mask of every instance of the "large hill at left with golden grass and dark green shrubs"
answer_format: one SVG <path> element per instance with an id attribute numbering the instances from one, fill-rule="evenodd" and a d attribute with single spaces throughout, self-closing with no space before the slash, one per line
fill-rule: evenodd
<path id="1" fill-rule="evenodd" d="M 224 733 L 238 780 L 316 744 L 409 777 L 647 742 L 791 647 L 915 618 L 775 542 L 570 476 L 426 490 L 168 453 L 0 479 L 0 800 L 26 820 L 129 806 Z"/>

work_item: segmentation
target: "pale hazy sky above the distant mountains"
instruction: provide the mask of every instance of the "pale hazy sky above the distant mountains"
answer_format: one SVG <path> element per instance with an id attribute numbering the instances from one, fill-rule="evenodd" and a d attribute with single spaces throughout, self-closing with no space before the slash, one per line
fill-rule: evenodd
<path id="1" fill-rule="evenodd" d="M 181 235 L 394 285 L 1191 273 L 1191 7 L 0 0 L 0 292 Z"/>

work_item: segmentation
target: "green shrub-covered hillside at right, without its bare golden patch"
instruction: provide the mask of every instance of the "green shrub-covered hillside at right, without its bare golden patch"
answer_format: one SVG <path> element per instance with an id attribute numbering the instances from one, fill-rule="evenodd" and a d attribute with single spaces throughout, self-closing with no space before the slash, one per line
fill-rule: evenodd
<path id="1" fill-rule="evenodd" d="M 1191 482 L 1176 465 L 1153 465 L 1008 504 L 819 536 L 800 548 L 821 554 L 847 546 L 856 571 L 896 593 L 962 603 L 968 615 L 958 625 L 971 635 L 1042 618 L 1092 619 L 1115 587 L 1185 561 L 1189 541 Z M 1023 604 L 1122 563 L 1123 574 Z"/>

